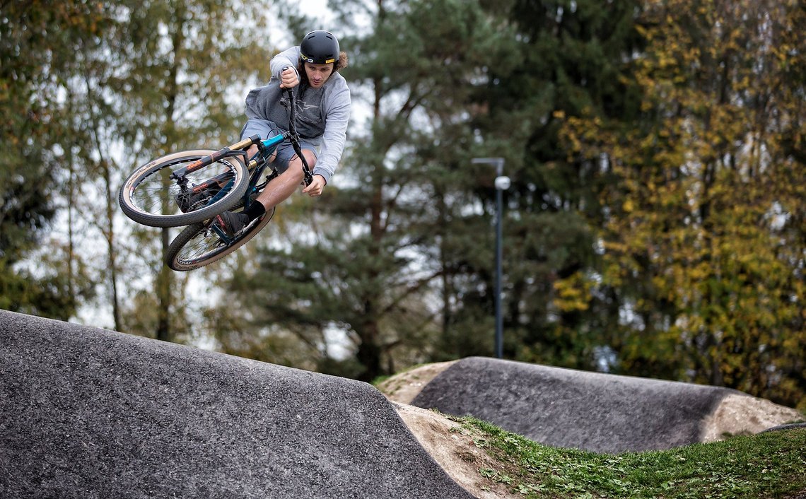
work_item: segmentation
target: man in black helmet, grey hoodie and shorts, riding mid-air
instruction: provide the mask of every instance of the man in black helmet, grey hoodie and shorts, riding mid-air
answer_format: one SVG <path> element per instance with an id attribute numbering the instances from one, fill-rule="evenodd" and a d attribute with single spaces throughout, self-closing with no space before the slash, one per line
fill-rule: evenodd
<path id="1" fill-rule="evenodd" d="M 269 62 L 272 78 L 268 85 L 252 89 L 246 99 L 247 123 L 241 138 L 259 134 L 268 139 L 289 130 L 289 98 L 284 89 L 297 89 L 297 131 L 313 181 L 302 190 L 319 196 L 339 164 L 347 139 L 351 97 L 347 81 L 339 69 L 347 67 L 347 54 L 339 50 L 339 40 L 329 31 L 311 31 L 297 47 L 280 52 Z M 247 157 L 254 156 L 251 146 Z M 289 141 L 280 143 L 271 161 L 279 176 L 269 182 L 248 210 L 225 211 L 215 223 L 234 235 L 268 210 L 285 201 L 303 180 L 300 158 Z"/>

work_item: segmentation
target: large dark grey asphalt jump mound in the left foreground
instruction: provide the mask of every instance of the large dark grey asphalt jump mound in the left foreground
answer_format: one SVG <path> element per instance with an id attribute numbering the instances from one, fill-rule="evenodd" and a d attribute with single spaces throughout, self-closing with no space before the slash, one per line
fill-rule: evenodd
<path id="1" fill-rule="evenodd" d="M 0 497 L 471 497 L 372 386 L 0 310 Z"/>

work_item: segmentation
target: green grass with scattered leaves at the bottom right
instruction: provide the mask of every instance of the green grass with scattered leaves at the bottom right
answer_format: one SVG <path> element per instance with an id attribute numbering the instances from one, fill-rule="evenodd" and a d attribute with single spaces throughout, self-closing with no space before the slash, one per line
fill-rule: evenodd
<path id="1" fill-rule="evenodd" d="M 546 447 L 475 418 L 454 418 L 500 466 L 488 479 L 523 497 L 799 497 L 806 429 L 618 455 Z"/>

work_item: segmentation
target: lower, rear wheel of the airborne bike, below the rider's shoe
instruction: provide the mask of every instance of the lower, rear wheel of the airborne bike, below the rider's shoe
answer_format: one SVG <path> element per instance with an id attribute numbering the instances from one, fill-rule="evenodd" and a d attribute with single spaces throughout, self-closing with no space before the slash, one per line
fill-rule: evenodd
<path id="1" fill-rule="evenodd" d="M 165 264 L 178 272 L 193 270 L 212 264 L 234 252 L 260 232 L 274 215 L 274 208 L 252 222 L 235 238 L 227 241 L 211 223 L 194 223 L 185 227 L 168 246 Z"/>

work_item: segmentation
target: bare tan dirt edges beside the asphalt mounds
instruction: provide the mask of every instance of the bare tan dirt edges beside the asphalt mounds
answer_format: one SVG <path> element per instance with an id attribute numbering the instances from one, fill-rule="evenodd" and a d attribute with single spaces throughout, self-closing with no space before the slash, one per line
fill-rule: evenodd
<path id="1" fill-rule="evenodd" d="M 455 362 L 455 361 L 454 361 Z M 522 497 L 504 484 L 480 475 L 480 468 L 495 468 L 486 452 L 476 447 L 474 435 L 442 414 L 409 405 L 422 388 L 454 362 L 427 364 L 384 380 L 379 389 L 393 402 L 397 414 L 418 442 L 467 492 L 480 499 Z M 755 397 L 729 395 L 705 421 L 703 442 L 726 435 L 752 435 L 771 426 L 800 420 L 794 409 Z"/>

